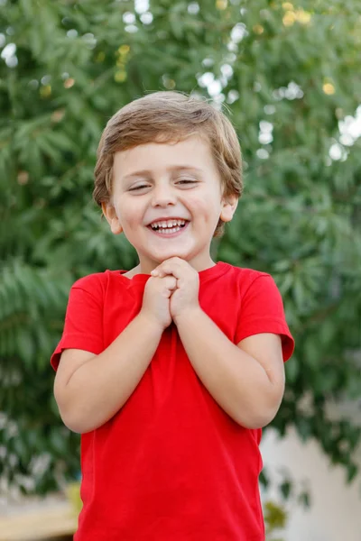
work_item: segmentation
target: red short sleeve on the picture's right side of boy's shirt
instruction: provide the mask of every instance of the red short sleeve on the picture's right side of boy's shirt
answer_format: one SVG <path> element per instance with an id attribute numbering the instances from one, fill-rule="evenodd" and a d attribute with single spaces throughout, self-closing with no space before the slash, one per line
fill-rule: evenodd
<path id="1" fill-rule="evenodd" d="M 282 297 L 272 276 L 261 274 L 245 290 L 236 328 L 236 344 L 261 333 L 280 335 L 283 361 L 294 350 L 294 340 L 284 315 Z"/>

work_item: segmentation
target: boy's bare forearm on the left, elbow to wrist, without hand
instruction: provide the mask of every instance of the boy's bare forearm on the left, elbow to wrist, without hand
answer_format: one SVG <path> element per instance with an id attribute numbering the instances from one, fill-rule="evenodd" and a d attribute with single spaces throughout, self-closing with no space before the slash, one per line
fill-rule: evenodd
<path id="1" fill-rule="evenodd" d="M 122 408 L 143 377 L 162 337 L 162 327 L 142 313 L 106 350 L 71 376 L 63 420 L 74 432 L 104 425 Z"/>

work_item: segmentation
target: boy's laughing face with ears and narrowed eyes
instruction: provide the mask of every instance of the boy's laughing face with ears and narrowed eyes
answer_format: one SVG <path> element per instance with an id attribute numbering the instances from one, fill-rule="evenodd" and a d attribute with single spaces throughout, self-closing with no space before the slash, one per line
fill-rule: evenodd
<path id="1" fill-rule="evenodd" d="M 197 136 L 116 152 L 113 193 L 103 211 L 122 231 L 149 273 L 178 256 L 197 270 L 212 265 L 209 247 L 218 219 L 232 219 L 237 198 L 222 196 L 209 145 Z"/>

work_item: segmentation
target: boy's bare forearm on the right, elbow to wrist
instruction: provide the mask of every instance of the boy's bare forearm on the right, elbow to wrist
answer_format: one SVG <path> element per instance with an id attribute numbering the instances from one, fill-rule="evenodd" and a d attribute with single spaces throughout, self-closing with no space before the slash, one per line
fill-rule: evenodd
<path id="1" fill-rule="evenodd" d="M 180 318 L 177 327 L 194 370 L 218 405 L 239 425 L 267 425 L 278 407 L 263 366 L 230 342 L 200 308 Z"/>

